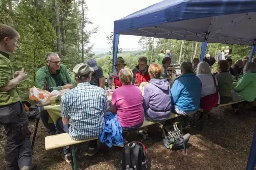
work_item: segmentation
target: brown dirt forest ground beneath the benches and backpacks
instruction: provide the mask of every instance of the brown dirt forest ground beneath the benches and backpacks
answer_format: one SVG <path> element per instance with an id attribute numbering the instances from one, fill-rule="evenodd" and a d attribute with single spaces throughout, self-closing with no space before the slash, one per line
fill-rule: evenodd
<path id="1" fill-rule="evenodd" d="M 230 106 L 215 108 L 204 130 L 193 129 L 190 146 L 183 151 L 167 150 L 161 138 L 160 129 L 151 126 L 149 140 L 142 140 L 136 133 L 127 136 L 128 141 L 142 141 L 147 148 L 151 170 L 242 170 L 245 169 L 250 152 L 256 113 L 244 112 L 234 115 Z M 35 122 L 30 129 L 34 130 Z M 39 124 L 34 147 L 34 162 L 38 170 L 71 170 L 71 164 L 61 158 L 61 149 L 45 150 L 45 129 Z M 0 132 L 0 169 L 4 162 L 4 137 Z M 32 139 L 32 138 L 31 138 Z M 61 139 L 60 139 L 61 140 Z M 79 170 L 117 170 L 122 148 L 108 148 L 101 145 L 101 150 L 94 156 L 84 156 L 87 144 L 79 146 L 76 153 Z"/>

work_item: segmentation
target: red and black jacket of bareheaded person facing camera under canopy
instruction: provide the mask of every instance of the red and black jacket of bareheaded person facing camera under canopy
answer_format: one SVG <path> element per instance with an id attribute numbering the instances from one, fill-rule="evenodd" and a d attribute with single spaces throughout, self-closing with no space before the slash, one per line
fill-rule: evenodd
<path id="1" fill-rule="evenodd" d="M 146 71 L 144 73 L 144 75 L 142 74 L 142 72 L 139 70 L 139 66 L 137 65 L 136 67 L 134 67 L 133 71 L 133 84 L 137 81 L 138 84 L 140 85 L 140 83 L 142 82 L 149 82 L 150 81 L 150 76 L 149 76 L 149 66 L 146 66 Z"/>

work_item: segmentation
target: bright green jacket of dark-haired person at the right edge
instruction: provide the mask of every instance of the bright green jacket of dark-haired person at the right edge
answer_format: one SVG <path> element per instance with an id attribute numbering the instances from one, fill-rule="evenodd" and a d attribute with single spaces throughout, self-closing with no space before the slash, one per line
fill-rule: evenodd
<path id="1" fill-rule="evenodd" d="M 256 72 L 248 72 L 242 75 L 233 90 L 238 92 L 245 101 L 254 101 L 256 98 Z"/>

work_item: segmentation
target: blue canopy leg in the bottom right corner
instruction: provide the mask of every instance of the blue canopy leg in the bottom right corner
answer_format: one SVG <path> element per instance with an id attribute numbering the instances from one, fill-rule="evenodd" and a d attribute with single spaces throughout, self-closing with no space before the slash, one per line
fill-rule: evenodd
<path id="1" fill-rule="evenodd" d="M 255 164 L 256 164 L 256 126 L 254 128 L 253 142 L 252 142 L 246 170 L 254 170 Z"/>

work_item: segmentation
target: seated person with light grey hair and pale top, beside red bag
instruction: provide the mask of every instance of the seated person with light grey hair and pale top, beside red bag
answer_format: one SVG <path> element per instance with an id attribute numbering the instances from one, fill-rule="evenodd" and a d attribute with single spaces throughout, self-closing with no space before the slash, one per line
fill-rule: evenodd
<path id="1" fill-rule="evenodd" d="M 213 77 L 211 73 L 211 68 L 209 67 L 207 62 L 201 62 L 197 66 L 197 77 L 201 80 L 202 90 L 201 90 L 201 98 L 210 94 L 214 94 L 216 92 L 216 87 L 214 83 L 214 79 L 216 81 L 216 85 L 218 86 L 217 79 Z M 220 102 L 220 99 L 219 99 Z"/>

